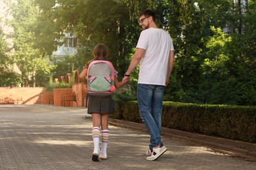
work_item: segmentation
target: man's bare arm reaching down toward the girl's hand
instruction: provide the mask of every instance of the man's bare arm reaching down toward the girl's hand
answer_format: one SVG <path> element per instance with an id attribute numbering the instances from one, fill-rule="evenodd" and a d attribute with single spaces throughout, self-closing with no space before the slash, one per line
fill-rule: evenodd
<path id="1" fill-rule="evenodd" d="M 127 69 L 127 71 L 125 73 L 126 75 L 130 75 L 133 72 L 135 67 L 137 67 L 137 65 L 140 63 L 140 59 L 142 59 L 142 57 L 145 55 L 145 52 L 146 52 L 146 50 L 144 50 L 143 48 L 137 48 L 136 49 L 136 52 L 133 56 L 133 59 L 131 59 L 131 63 L 129 65 L 129 68 Z M 127 79 L 127 78 L 128 77 L 125 76 L 125 77 L 123 77 L 123 80 Z"/>

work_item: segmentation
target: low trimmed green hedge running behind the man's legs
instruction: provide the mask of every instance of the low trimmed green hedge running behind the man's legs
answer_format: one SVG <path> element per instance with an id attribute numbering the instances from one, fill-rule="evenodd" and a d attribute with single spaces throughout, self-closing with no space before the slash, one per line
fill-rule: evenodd
<path id="1" fill-rule="evenodd" d="M 116 103 L 112 118 L 142 123 L 137 101 Z M 162 126 L 256 143 L 256 107 L 163 103 Z"/>

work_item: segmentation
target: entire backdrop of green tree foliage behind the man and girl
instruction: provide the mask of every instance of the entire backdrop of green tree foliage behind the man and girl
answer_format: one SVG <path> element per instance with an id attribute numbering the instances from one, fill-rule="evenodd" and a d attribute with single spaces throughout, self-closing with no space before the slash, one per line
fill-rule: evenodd
<path id="1" fill-rule="evenodd" d="M 158 26 L 171 35 L 177 54 L 165 101 L 256 105 L 255 1 L 241 7 L 230 0 L 6 2 L 13 16 L 9 25 L 14 29 L 14 55 L 4 55 L 7 46 L 0 39 L 0 63 L 5 67 L 18 63 L 22 77 L 35 78 L 37 86 L 45 86 L 51 73 L 59 78 L 81 70 L 93 58 L 97 43 L 108 46 L 121 80 L 139 39 L 138 14 L 152 9 Z M 65 33 L 77 36 L 78 52 L 55 68 L 48 67 L 42 58 L 56 50 L 61 44 L 56 40 Z M 139 67 L 127 85 L 131 93 L 137 92 L 138 75 Z"/>

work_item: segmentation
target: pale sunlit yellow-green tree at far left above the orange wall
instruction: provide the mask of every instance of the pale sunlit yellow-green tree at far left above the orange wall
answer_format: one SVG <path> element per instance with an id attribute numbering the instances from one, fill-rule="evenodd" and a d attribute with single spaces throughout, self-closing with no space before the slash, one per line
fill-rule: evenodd
<path id="1" fill-rule="evenodd" d="M 35 34 L 32 31 L 35 23 L 38 9 L 33 6 L 33 0 L 17 0 L 14 3 L 9 2 L 9 12 L 12 20 L 9 25 L 13 27 L 14 32 L 11 34 L 13 41 L 14 55 L 9 56 L 18 68 L 24 80 L 23 86 L 28 82 L 28 77 L 32 78 L 33 87 L 35 87 L 35 73 L 42 65 L 49 69 L 49 62 L 41 57 L 40 50 L 35 47 Z M 45 71 L 47 71 L 45 69 Z M 49 72 L 49 70 L 48 70 Z M 26 82 L 25 82 L 26 81 Z"/>

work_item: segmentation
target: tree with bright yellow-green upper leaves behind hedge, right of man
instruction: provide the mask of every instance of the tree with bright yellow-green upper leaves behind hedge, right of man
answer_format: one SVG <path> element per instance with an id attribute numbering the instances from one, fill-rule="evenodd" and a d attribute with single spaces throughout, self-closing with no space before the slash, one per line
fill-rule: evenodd
<path id="1" fill-rule="evenodd" d="M 196 88 L 189 88 L 185 101 L 192 103 L 209 104 L 229 104 L 236 105 L 238 97 L 232 86 L 236 80 L 229 76 L 225 67 L 229 57 L 226 55 L 226 44 L 231 41 L 231 37 L 221 31 L 220 28 L 211 27 L 213 36 L 205 44 L 207 50 L 203 52 L 205 56 L 201 64 L 202 79 Z"/>

